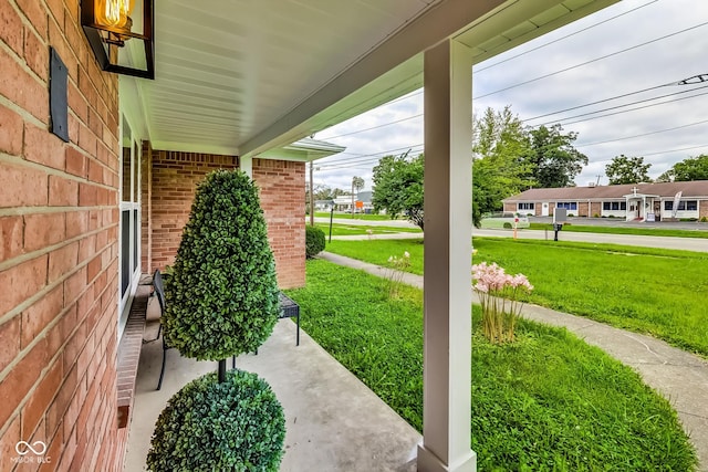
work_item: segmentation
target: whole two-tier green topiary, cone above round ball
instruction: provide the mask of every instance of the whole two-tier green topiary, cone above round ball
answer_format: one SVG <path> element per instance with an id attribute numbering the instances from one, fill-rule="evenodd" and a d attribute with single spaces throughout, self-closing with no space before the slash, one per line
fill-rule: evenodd
<path id="1" fill-rule="evenodd" d="M 179 390 L 157 422 L 152 471 L 277 471 L 284 417 L 268 384 L 226 359 L 256 350 L 272 333 L 275 263 L 258 189 L 240 170 L 217 170 L 197 193 L 166 286 L 167 344 L 219 370 Z"/>

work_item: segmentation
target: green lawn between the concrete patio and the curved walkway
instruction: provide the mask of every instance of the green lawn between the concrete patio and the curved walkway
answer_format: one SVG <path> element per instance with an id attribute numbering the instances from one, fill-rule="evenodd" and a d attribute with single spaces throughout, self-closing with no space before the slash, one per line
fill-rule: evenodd
<path id="1" fill-rule="evenodd" d="M 423 301 L 326 261 L 289 291 L 303 328 L 412 426 L 421 429 Z M 460 314 L 460 316 L 469 314 Z M 473 310 L 479 325 L 479 310 Z M 521 322 L 518 342 L 472 336 L 472 449 L 481 471 L 695 470 L 669 403 L 637 374 L 565 329 Z"/>

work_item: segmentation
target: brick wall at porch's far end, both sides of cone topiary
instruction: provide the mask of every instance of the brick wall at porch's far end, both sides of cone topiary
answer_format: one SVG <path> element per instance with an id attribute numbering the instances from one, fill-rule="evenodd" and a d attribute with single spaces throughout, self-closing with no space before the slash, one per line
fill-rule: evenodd
<path id="1" fill-rule="evenodd" d="M 143 247 L 145 258 L 150 254 L 149 260 L 143 261 L 143 271 L 163 269 L 175 262 L 197 183 L 211 170 L 238 167 L 238 158 L 232 156 L 153 150 L 143 154 L 144 162 L 148 159 L 149 178 L 143 170 L 143 242 L 149 233 L 152 243 L 149 248 Z M 302 286 L 305 282 L 304 172 L 303 162 L 253 161 L 253 179 L 261 190 L 281 289 Z M 150 189 L 149 199 L 145 198 L 146 188 Z"/>

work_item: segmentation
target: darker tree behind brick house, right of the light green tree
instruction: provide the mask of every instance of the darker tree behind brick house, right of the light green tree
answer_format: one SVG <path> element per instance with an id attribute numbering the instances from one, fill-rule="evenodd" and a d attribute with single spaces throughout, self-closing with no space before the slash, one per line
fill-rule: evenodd
<path id="1" fill-rule="evenodd" d="M 562 132 L 560 124 L 529 130 L 530 153 L 527 159 L 533 169 L 531 177 L 535 187 L 573 187 L 573 180 L 587 165 L 587 156 L 573 147 L 577 133 Z"/>

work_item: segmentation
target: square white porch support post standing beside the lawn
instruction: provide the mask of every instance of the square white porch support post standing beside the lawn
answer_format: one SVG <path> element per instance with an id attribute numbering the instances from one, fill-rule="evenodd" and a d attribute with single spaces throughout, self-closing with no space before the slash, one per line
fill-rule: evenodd
<path id="1" fill-rule="evenodd" d="M 452 40 L 425 53 L 425 336 L 418 471 L 472 472 L 472 61 Z"/>

